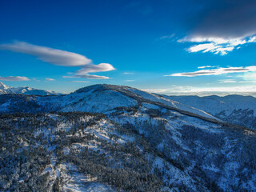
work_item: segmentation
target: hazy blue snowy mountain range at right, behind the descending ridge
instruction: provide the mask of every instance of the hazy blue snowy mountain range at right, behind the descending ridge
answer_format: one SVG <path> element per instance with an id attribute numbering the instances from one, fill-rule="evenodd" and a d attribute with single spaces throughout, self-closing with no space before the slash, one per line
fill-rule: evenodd
<path id="1" fill-rule="evenodd" d="M 252 96 L 227 95 L 219 97 L 212 95 L 198 97 L 162 95 L 162 97 L 197 107 L 225 122 L 256 130 L 256 98 Z"/>

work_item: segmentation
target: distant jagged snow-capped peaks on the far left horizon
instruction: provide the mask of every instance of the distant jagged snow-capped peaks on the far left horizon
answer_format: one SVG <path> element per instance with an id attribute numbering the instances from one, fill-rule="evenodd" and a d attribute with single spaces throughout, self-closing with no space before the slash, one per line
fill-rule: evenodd
<path id="1" fill-rule="evenodd" d="M 35 95 L 59 95 L 59 93 L 50 91 L 50 90 L 38 90 L 34 88 L 30 88 L 28 86 L 19 86 L 12 87 L 6 86 L 4 83 L 0 82 L 0 94 L 35 94 Z"/>

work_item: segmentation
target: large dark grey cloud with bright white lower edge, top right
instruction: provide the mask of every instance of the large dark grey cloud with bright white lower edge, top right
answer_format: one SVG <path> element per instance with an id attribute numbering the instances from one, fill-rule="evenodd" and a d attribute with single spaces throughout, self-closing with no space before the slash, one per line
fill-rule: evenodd
<path id="1" fill-rule="evenodd" d="M 256 2 L 210 1 L 194 19 L 194 27 L 178 42 L 194 42 L 188 52 L 225 55 L 242 45 L 256 42 Z"/>

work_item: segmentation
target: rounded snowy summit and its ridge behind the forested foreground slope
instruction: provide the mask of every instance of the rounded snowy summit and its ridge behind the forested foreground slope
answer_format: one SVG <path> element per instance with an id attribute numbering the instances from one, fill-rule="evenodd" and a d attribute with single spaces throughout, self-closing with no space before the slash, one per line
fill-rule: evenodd
<path id="1" fill-rule="evenodd" d="M 170 110 L 176 110 L 182 114 L 197 116 L 198 118 L 203 118 L 205 120 L 208 119 L 209 121 L 222 122 L 218 118 L 215 118 L 202 110 L 128 86 L 113 86 L 106 84 L 87 86 L 71 94 L 50 97 L 26 97 L 22 98 L 22 102 L 19 100 L 15 101 L 14 97 L 8 99 L 8 96 L 5 96 L 4 98 L 5 99 L 2 99 L 4 102 L 2 102 L 2 106 L 0 106 L 0 111 L 2 112 L 8 108 L 6 108 L 6 103 L 10 103 L 9 110 L 16 110 L 19 108 L 19 105 L 17 104 L 17 102 L 19 102 L 21 105 L 20 110 L 22 110 L 22 112 L 33 112 L 34 110 L 46 112 L 84 111 L 107 114 L 108 111 L 114 110 L 118 107 L 133 106 L 138 108 L 143 102 L 166 107 Z M 15 106 L 14 102 L 10 102 L 12 99 L 16 102 Z M 24 105 L 26 107 L 24 107 Z M 26 111 L 25 108 L 29 109 L 29 111 Z"/>

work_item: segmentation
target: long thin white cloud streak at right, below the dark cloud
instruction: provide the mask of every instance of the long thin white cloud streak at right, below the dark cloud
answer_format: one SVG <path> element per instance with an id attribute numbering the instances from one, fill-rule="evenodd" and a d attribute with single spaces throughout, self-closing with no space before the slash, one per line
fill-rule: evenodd
<path id="1" fill-rule="evenodd" d="M 256 71 L 256 66 L 246 66 L 246 67 L 240 66 L 240 67 L 227 67 L 227 68 L 219 67 L 217 69 L 212 69 L 212 70 L 197 70 L 194 72 L 168 74 L 164 76 L 195 77 L 195 76 L 202 76 L 202 75 L 220 75 L 220 74 L 242 73 L 242 72 L 250 72 L 250 71 Z"/>

